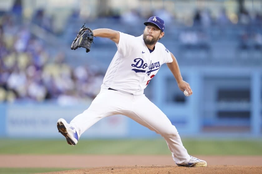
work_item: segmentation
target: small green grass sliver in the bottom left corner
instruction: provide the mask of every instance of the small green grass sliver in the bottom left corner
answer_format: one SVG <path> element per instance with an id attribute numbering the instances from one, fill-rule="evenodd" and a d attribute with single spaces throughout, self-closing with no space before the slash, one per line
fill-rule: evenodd
<path id="1" fill-rule="evenodd" d="M 70 170 L 66 168 L 0 168 L 0 173 L 3 174 L 31 174 L 43 172 L 57 172 Z"/>

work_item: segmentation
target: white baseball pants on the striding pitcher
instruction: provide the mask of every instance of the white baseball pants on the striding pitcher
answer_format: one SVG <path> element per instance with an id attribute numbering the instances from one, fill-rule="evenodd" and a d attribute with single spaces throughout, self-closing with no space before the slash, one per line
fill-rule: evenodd
<path id="1" fill-rule="evenodd" d="M 176 163 L 185 164 L 189 161 L 190 156 L 182 144 L 176 127 L 144 94 L 124 94 L 102 87 L 90 107 L 76 116 L 70 125 L 75 127 L 80 137 L 100 119 L 116 114 L 125 115 L 163 136 Z"/>

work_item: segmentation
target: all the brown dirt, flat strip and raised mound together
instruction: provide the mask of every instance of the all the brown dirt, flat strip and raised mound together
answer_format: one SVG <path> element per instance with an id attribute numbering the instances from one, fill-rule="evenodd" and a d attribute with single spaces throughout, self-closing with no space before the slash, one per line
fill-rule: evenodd
<path id="1" fill-rule="evenodd" d="M 81 168 L 48 174 L 262 173 L 262 156 L 199 156 L 207 167 L 177 167 L 171 155 L 0 155 L 0 167 Z"/>

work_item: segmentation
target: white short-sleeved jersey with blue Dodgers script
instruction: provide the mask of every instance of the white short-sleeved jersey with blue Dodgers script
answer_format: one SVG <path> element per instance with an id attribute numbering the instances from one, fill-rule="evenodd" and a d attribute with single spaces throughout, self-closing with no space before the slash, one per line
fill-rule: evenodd
<path id="1" fill-rule="evenodd" d="M 105 74 L 103 85 L 127 94 L 143 94 L 161 65 L 173 59 L 162 43 L 157 42 L 150 53 L 143 34 L 134 37 L 119 33 L 119 43 L 116 44 L 118 49 Z"/>

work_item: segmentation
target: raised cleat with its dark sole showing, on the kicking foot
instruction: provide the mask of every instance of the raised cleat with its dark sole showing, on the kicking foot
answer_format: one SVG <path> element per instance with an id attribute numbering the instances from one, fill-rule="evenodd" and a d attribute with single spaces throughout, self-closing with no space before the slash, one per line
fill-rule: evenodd
<path id="1" fill-rule="evenodd" d="M 70 126 L 65 119 L 60 118 L 57 121 L 57 129 L 65 136 L 68 144 L 74 146 L 78 142 L 78 135 L 74 127 Z"/>

